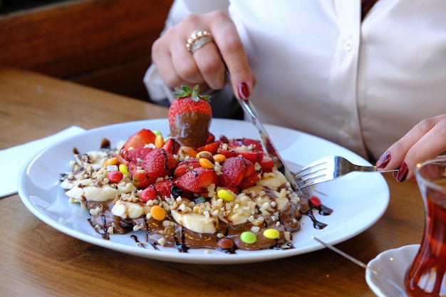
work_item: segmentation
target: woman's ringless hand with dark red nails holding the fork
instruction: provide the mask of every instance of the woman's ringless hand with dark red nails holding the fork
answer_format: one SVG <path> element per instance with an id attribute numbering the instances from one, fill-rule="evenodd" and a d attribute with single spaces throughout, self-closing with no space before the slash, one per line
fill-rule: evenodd
<path id="1" fill-rule="evenodd" d="M 381 155 L 376 166 L 383 170 L 398 168 L 393 176 L 398 182 L 415 181 L 417 163 L 446 151 L 446 114 L 422 120 Z"/>

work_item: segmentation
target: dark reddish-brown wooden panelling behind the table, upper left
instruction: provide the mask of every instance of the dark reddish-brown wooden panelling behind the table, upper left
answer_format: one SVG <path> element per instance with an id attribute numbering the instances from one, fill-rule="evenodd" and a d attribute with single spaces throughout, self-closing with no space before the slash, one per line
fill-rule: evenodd
<path id="1" fill-rule="evenodd" d="M 172 0 L 71 0 L 0 16 L 0 65 L 147 100 L 142 76 Z"/>

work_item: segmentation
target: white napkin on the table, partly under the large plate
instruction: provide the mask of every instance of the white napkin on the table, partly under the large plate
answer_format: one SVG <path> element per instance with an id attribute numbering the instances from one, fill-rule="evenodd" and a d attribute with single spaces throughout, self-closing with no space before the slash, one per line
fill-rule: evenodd
<path id="1" fill-rule="evenodd" d="M 3 167 L 3 170 L 0 170 L 0 197 L 9 196 L 17 192 L 17 179 L 19 178 L 20 170 L 31 157 L 60 140 L 84 131 L 85 129 L 81 127 L 71 126 L 54 135 L 34 140 L 24 145 L 0 150 L 0 163 L 1 167 Z"/>

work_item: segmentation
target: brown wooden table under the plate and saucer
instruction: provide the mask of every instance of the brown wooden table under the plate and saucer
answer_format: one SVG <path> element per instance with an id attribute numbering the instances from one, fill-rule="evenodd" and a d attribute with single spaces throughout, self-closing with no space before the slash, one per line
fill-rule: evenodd
<path id="1" fill-rule="evenodd" d="M 71 125 L 167 116 L 149 103 L 9 68 L 0 68 L 0 103 L 0 149 Z M 390 205 L 383 217 L 337 245 L 364 262 L 421 241 L 417 185 L 385 178 Z M 0 296 L 374 296 L 364 270 L 328 249 L 255 264 L 177 264 L 67 236 L 34 217 L 17 194 L 0 199 L 0 218 Z"/>

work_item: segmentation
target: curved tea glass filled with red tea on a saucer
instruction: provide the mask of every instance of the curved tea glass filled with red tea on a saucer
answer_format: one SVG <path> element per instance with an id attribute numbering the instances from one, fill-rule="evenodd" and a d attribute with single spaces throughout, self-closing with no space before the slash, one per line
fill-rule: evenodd
<path id="1" fill-rule="evenodd" d="M 408 296 L 446 297 L 446 157 L 415 168 L 425 208 L 420 249 L 405 276 Z"/>

